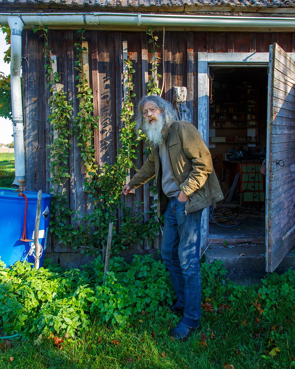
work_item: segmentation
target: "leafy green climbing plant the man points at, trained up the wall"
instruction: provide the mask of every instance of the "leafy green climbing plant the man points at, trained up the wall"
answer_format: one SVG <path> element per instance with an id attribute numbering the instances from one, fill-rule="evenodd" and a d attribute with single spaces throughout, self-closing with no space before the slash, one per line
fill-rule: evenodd
<path id="1" fill-rule="evenodd" d="M 37 28 L 34 32 L 37 32 Z M 82 53 L 84 29 L 78 31 L 80 41 L 77 47 L 77 60 L 74 63 L 77 70 L 76 99 L 79 102 L 79 113 L 74 118 L 74 129 L 69 130 L 72 121 L 73 107 L 67 100 L 67 95 L 60 85 L 58 72 L 53 72 L 53 60 L 48 45 L 48 29 L 42 28 L 44 35 L 45 75 L 47 85 L 50 87 L 51 113 L 48 122 L 52 127 L 52 143 L 50 149 L 51 193 L 53 201 L 51 206 L 51 232 L 58 237 L 60 243 L 72 246 L 73 249 L 82 248 L 85 252 L 104 251 L 108 236 L 108 224 L 116 221 L 117 209 L 120 204 L 119 194 L 122 183 L 130 169 L 134 168 L 134 159 L 138 153 L 138 137 L 134 132 L 133 120 L 133 80 L 135 73 L 132 62 L 126 63 L 125 75 L 125 101 L 121 111 L 123 128 L 119 134 L 119 150 L 115 162 L 106 163 L 98 169 L 95 164 L 95 151 L 93 147 L 94 131 L 97 127 L 97 118 L 93 117 L 93 93 L 83 73 Z M 68 206 L 66 193 L 67 181 L 70 179 L 68 172 L 68 156 L 70 138 L 77 134 L 80 155 L 85 168 L 84 191 L 88 194 L 92 204 L 92 211 L 87 214 L 71 210 Z M 141 137 L 142 138 L 142 137 Z M 154 213 L 151 211 L 150 213 Z M 132 218 L 132 219 L 131 219 Z M 134 221 L 139 222 L 134 232 Z M 131 227 L 133 231 L 131 230 Z M 123 206 L 123 218 L 119 234 L 113 231 L 113 250 L 118 251 L 132 245 L 134 242 L 143 242 L 144 238 L 152 239 L 158 234 L 159 226 L 152 217 L 150 222 L 143 222 L 143 213 L 139 210 L 135 217 L 131 216 L 130 209 Z"/>

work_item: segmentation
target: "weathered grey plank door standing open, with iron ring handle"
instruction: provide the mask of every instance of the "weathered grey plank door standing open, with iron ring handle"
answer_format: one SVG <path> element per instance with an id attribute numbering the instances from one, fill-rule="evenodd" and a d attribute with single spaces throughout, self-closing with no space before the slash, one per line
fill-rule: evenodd
<path id="1" fill-rule="evenodd" d="M 266 151 L 265 262 L 273 272 L 295 245 L 295 62 L 270 45 Z"/>

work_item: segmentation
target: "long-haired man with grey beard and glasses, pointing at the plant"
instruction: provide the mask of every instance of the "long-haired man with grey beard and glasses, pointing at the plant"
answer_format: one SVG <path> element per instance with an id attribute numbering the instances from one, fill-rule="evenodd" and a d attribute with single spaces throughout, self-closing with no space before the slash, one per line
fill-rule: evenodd
<path id="1" fill-rule="evenodd" d="M 158 96 L 138 105 L 136 129 L 142 130 L 152 152 L 125 184 L 127 195 L 155 176 L 158 215 L 164 214 L 161 255 L 170 272 L 177 302 L 170 307 L 183 318 L 169 333 L 186 339 L 201 318 L 200 239 L 202 210 L 223 199 L 210 152 L 191 123 L 178 121 L 176 111 Z"/>

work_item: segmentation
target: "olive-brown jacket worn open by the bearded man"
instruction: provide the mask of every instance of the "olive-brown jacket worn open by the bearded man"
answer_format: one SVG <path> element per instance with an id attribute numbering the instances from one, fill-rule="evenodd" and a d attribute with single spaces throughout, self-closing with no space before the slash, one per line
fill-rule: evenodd
<path id="1" fill-rule="evenodd" d="M 213 169 L 211 154 L 201 138 L 200 132 L 191 123 L 174 121 L 166 130 L 165 138 L 170 170 L 174 182 L 187 196 L 186 213 L 215 206 L 223 199 L 218 179 Z M 159 148 L 153 150 L 128 183 L 136 189 L 150 178 L 156 176 L 156 188 L 159 198 L 158 215 L 165 211 L 168 198 L 162 191 L 162 166 Z"/>

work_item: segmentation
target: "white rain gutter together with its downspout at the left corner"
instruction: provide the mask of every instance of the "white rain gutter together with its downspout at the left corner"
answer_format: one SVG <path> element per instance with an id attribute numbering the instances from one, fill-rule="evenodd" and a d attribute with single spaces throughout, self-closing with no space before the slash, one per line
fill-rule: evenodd
<path id="1" fill-rule="evenodd" d="M 11 100 L 15 155 L 15 180 L 25 177 L 24 128 L 21 100 L 21 32 L 24 26 L 164 26 L 164 27 L 209 27 L 223 30 L 238 28 L 264 31 L 295 31 L 294 17 L 250 17 L 233 15 L 188 15 L 188 14 L 136 14 L 136 13 L 0 13 L 0 24 L 8 24 L 11 30 Z"/>

